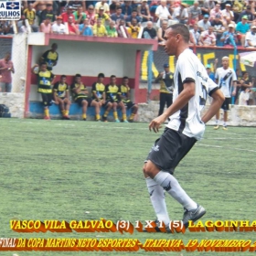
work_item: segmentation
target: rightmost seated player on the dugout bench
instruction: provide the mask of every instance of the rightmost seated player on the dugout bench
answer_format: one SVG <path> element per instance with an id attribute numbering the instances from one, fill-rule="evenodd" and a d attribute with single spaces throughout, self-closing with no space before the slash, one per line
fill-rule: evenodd
<path id="1" fill-rule="evenodd" d="M 132 109 L 132 113 L 129 117 L 129 122 L 133 123 L 133 118 L 134 118 L 135 114 L 138 112 L 138 105 L 133 103 L 133 101 L 131 101 L 128 77 L 123 77 L 123 83 L 120 86 L 119 90 L 120 90 L 120 95 L 121 95 L 120 96 L 121 101 L 123 102 L 126 109 L 127 110 Z"/>

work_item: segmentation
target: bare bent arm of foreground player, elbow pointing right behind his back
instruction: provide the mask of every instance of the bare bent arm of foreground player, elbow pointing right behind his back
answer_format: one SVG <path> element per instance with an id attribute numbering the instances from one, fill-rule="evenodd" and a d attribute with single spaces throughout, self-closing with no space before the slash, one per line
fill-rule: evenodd
<path id="1" fill-rule="evenodd" d="M 208 108 L 208 111 L 201 118 L 203 123 L 208 123 L 208 121 L 219 111 L 223 101 L 225 101 L 225 97 L 218 87 L 213 90 L 210 96 L 212 97 L 212 102 Z"/>

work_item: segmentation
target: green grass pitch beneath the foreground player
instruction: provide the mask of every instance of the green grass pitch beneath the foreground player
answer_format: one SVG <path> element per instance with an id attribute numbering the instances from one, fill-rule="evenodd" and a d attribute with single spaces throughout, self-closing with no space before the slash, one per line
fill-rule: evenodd
<path id="1" fill-rule="evenodd" d="M 256 240 L 255 232 L 16 233 L 10 219 L 155 219 L 142 174 L 144 158 L 158 134 L 147 123 L 1 119 L 0 237 Z M 207 209 L 202 220 L 256 219 L 255 128 L 207 127 L 176 168 L 188 195 Z M 169 195 L 171 219 L 183 208 Z M 0 255 L 13 255 L 0 251 Z M 128 252 L 17 252 L 18 255 L 128 255 Z M 189 255 L 215 255 L 191 252 Z M 133 255 L 185 255 L 137 251 Z M 239 253 L 229 252 L 228 255 Z M 242 255 L 251 255 L 243 252 Z M 227 255 L 218 252 L 217 255 Z"/>

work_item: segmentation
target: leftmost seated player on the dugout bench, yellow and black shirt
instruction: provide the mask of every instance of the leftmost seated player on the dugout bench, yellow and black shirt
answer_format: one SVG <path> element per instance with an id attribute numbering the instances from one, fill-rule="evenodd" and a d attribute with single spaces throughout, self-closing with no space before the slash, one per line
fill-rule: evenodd
<path id="1" fill-rule="evenodd" d="M 69 120 L 69 85 L 66 82 L 67 77 L 62 75 L 60 81 L 57 81 L 53 86 L 53 100 L 55 104 L 59 105 L 62 119 Z"/>

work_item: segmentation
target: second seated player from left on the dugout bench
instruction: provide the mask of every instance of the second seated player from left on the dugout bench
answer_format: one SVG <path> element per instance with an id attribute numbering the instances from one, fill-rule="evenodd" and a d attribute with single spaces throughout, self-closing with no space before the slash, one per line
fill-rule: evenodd
<path id="1" fill-rule="evenodd" d="M 73 99 L 76 103 L 78 103 L 82 110 L 82 120 L 86 121 L 87 115 L 87 108 L 88 107 L 95 107 L 95 115 L 98 117 L 96 121 L 100 121 L 100 105 L 99 102 L 92 100 L 88 96 L 88 91 L 86 86 L 81 81 L 81 75 L 76 74 L 75 82 L 71 85 L 71 91 L 73 92 Z"/>

